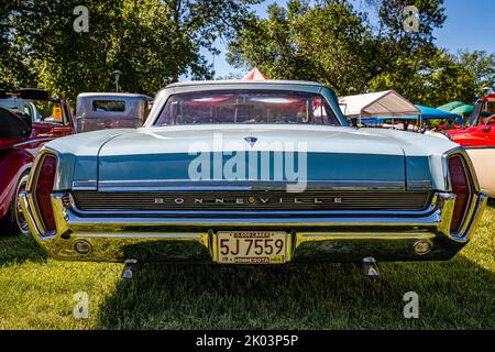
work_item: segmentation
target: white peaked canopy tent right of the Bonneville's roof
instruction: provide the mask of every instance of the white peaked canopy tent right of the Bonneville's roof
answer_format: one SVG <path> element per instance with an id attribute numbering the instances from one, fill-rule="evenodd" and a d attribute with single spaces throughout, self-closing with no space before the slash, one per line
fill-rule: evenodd
<path id="1" fill-rule="evenodd" d="M 346 118 L 372 119 L 377 117 L 418 116 L 421 111 L 394 90 L 349 96 L 339 99 Z"/>

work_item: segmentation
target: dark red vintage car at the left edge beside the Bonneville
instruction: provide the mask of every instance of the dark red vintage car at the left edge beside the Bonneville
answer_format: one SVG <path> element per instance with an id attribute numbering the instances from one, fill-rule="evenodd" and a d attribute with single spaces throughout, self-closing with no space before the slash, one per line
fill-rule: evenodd
<path id="1" fill-rule="evenodd" d="M 67 101 L 41 89 L 0 90 L 0 232 L 28 233 L 18 196 L 46 142 L 75 133 Z"/>

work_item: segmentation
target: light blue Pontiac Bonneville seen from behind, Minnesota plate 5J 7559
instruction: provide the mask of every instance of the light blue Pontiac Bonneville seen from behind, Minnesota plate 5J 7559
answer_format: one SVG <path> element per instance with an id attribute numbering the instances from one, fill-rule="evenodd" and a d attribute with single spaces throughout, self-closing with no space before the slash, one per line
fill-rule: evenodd
<path id="1" fill-rule="evenodd" d="M 53 257 L 124 263 L 444 261 L 485 204 L 458 144 L 283 80 L 173 84 L 141 129 L 46 144 L 21 196 Z"/>

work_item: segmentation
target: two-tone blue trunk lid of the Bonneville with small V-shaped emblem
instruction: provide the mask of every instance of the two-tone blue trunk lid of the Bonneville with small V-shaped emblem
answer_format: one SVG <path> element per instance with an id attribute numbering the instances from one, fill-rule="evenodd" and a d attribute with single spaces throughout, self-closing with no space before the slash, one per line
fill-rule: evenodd
<path id="1" fill-rule="evenodd" d="M 298 180 L 405 188 L 405 164 L 396 141 L 350 128 L 168 127 L 140 129 L 105 144 L 98 180 L 100 188 Z"/>

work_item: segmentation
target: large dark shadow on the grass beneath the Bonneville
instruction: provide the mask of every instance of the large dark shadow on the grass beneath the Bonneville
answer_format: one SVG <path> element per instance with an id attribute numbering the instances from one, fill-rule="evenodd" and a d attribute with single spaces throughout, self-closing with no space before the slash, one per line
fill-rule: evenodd
<path id="1" fill-rule="evenodd" d="M 143 266 L 100 306 L 110 329 L 493 329 L 495 274 L 465 257 L 393 263 L 375 280 L 349 264 Z M 419 295 L 419 319 L 404 295 Z"/>

